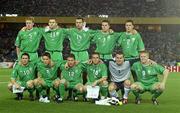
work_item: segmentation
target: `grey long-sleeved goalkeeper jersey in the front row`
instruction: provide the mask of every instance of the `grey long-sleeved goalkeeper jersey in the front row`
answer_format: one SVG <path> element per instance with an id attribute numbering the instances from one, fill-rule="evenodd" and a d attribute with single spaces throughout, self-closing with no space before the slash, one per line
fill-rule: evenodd
<path id="1" fill-rule="evenodd" d="M 125 61 L 122 65 L 117 65 L 115 61 L 110 61 L 109 71 L 112 82 L 122 82 L 130 78 L 130 63 L 129 61 Z"/>

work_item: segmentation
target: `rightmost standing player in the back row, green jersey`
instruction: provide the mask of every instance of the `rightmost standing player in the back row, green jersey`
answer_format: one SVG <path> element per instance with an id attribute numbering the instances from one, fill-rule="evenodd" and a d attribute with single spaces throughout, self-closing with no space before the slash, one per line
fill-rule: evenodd
<path id="1" fill-rule="evenodd" d="M 139 61 L 139 52 L 145 50 L 144 43 L 139 33 L 134 34 L 134 22 L 127 20 L 125 22 L 126 31 L 120 33 L 119 45 L 126 61 L 129 61 L 131 66 L 134 62 Z M 137 81 L 137 76 L 132 70 L 134 81 Z"/>

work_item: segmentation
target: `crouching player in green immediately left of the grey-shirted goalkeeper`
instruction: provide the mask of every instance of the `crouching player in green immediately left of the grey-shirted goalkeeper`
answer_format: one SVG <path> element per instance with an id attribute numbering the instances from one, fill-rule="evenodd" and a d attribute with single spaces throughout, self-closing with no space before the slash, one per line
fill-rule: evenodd
<path id="1" fill-rule="evenodd" d="M 101 99 L 104 99 L 108 96 L 107 67 L 97 52 L 92 53 L 91 61 L 86 65 L 87 83 L 84 90 L 87 91 L 88 85 L 100 86 Z"/>

